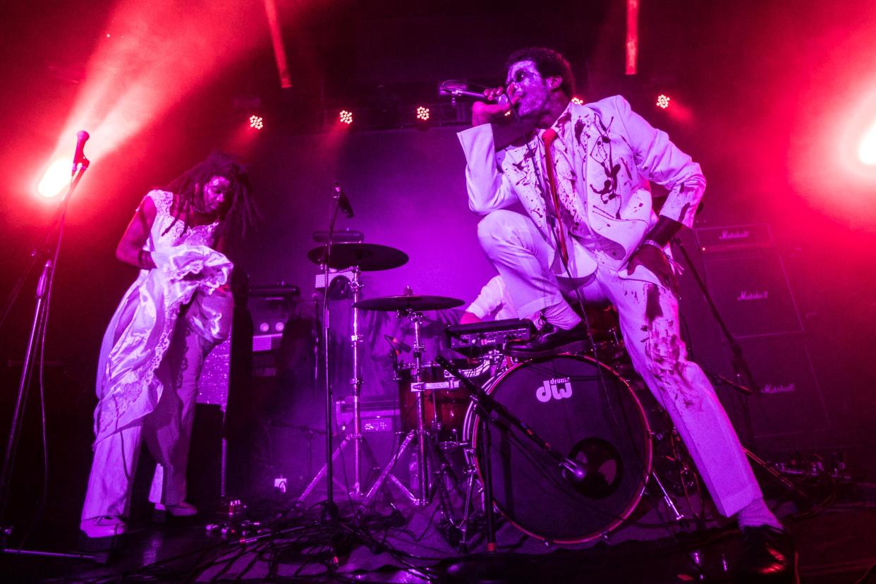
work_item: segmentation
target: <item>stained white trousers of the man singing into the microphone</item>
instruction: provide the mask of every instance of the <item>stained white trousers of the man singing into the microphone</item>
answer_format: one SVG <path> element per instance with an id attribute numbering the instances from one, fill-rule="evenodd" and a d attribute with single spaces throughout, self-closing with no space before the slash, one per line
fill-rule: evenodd
<path id="1" fill-rule="evenodd" d="M 621 278 L 597 258 L 589 278 L 558 280 L 548 265 L 552 250 L 526 216 L 494 211 L 477 228 L 481 245 L 505 280 L 520 315 L 573 297 L 608 300 L 618 310 L 620 330 L 633 367 L 668 412 L 717 509 L 725 517 L 762 497 L 736 431 L 703 370 L 687 360 L 679 334 L 678 300 L 661 285 Z"/>

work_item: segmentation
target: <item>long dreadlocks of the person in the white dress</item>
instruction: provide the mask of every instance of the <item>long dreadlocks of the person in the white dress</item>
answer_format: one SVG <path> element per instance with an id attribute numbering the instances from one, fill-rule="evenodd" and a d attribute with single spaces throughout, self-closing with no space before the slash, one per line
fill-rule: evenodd
<path id="1" fill-rule="evenodd" d="M 191 211 L 204 212 L 203 187 L 215 176 L 228 179 L 228 196 L 231 197 L 228 210 L 219 217 L 216 240 L 230 235 L 232 229 L 238 230 L 241 236 L 246 235 L 247 229 L 258 221 L 258 209 L 251 196 L 250 176 L 246 166 L 222 152 L 213 152 L 165 186 L 165 190 L 176 195 L 177 209 L 173 214 L 173 222 L 164 233 L 180 221 L 180 215 Z"/>

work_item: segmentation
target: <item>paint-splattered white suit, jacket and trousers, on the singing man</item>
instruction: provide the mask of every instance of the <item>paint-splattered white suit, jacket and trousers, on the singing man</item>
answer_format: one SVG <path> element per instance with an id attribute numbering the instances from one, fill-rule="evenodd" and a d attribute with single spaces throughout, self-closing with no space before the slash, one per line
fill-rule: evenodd
<path id="1" fill-rule="evenodd" d="M 490 124 L 459 133 L 469 205 L 485 215 L 481 244 L 520 315 L 565 302 L 575 289 L 587 301 L 611 301 L 633 365 L 673 419 L 718 510 L 732 515 L 761 496 L 736 432 L 702 369 L 687 361 L 675 295 L 643 267 L 626 270 L 657 222 L 648 181 L 669 190 L 661 215 L 690 227 L 705 189 L 700 166 L 620 96 L 569 103 L 552 129 L 569 272 L 555 251 L 541 131 L 498 152 Z M 506 209 L 518 201 L 528 216 Z"/>

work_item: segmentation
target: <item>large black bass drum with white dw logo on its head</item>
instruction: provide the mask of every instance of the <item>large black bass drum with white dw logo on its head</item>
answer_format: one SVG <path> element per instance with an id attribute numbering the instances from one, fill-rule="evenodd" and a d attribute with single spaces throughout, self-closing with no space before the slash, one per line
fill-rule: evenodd
<path id="1" fill-rule="evenodd" d="M 561 544 L 599 538 L 639 503 L 651 471 L 645 412 L 630 386 L 589 357 L 555 355 L 520 362 L 484 388 L 548 444 L 586 470 L 573 484 L 550 456 L 501 418 L 489 422 L 493 499 L 505 517 L 533 537 Z M 475 406 L 463 439 L 484 481 L 483 440 Z"/>

